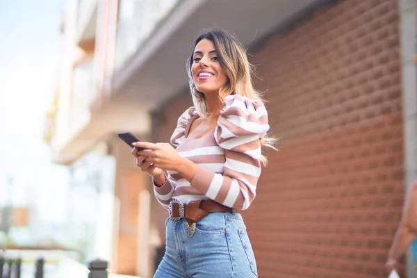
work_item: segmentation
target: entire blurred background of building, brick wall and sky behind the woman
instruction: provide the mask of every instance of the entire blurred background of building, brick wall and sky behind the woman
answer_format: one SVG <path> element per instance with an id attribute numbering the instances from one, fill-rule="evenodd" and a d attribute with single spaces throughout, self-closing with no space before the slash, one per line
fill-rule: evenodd
<path id="1" fill-rule="evenodd" d="M 5 273 L 152 277 L 167 211 L 117 133 L 169 141 L 209 27 L 247 47 L 281 138 L 243 212 L 259 277 L 383 277 L 417 179 L 414 0 L 0 1 Z"/>

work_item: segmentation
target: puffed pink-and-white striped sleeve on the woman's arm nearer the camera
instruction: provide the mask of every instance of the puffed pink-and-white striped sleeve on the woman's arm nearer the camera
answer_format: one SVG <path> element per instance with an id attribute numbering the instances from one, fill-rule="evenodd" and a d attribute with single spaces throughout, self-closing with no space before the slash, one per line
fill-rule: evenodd
<path id="1" fill-rule="evenodd" d="M 225 206 L 248 208 L 261 174 L 261 138 L 269 128 L 261 101 L 226 97 L 214 132 L 215 141 L 224 149 L 223 174 L 199 166 L 191 186 Z"/>

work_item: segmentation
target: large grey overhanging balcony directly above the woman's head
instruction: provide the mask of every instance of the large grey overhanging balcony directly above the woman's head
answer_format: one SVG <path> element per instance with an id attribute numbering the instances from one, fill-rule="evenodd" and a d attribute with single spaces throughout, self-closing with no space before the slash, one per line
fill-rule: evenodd
<path id="1" fill-rule="evenodd" d="M 264 0 L 259 4 L 240 0 L 236 5 L 223 0 L 179 0 L 170 1 L 165 10 L 158 6 L 162 1 L 142 2 L 143 6 L 120 11 L 111 95 L 140 99 L 152 110 L 188 87 L 186 59 L 191 42 L 203 28 L 221 26 L 236 33 L 246 47 L 256 47 L 304 10 L 329 1 Z M 147 17 L 146 24 L 142 16 Z"/>

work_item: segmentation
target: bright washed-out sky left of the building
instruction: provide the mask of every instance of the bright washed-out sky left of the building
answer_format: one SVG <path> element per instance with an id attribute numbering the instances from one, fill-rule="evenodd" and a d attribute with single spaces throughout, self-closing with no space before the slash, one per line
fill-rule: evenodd
<path id="1" fill-rule="evenodd" d="M 44 115 L 58 83 L 65 0 L 0 0 L 0 206 L 64 221 L 67 168 L 51 163 Z M 12 177 L 11 191 L 8 191 Z"/>

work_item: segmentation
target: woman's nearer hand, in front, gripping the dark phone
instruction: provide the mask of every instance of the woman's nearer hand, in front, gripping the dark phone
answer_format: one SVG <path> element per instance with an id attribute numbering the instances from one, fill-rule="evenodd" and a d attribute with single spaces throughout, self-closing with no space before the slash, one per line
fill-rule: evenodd
<path id="1" fill-rule="evenodd" d="M 162 170 L 176 171 L 184 159 L 167 143 L 135 142 L 133 145 L 144 148 L 145 150 L 138 152 L 138 154 L 146 156 L 145 161 L 153 163 L 154 167 L 159 167 Z"/>

